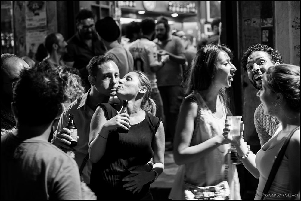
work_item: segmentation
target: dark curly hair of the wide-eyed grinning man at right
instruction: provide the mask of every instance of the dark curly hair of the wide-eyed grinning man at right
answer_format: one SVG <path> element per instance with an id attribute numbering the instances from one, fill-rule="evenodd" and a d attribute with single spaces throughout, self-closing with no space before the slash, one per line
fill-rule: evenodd
<path id="1" fill-rule="evenodd" d="M 253 52 L 256 52 L 256 51 L 263 51 L 263 52 L 266 52 L 268 55 L 270 55 L 270 59 L 273 64 L 275 64 L 276 62 L 283 63 L 283 58 L 277 50 L 275 50 L 274 48 L 269 47 L 265 44 L 257 43 L 255 45 L 248 47 L 247 51 L 241 57 L 241 63 L 243 65 L 243 68 L 245 69 L 245 71 L 247 71 L 248 57 Z"/>

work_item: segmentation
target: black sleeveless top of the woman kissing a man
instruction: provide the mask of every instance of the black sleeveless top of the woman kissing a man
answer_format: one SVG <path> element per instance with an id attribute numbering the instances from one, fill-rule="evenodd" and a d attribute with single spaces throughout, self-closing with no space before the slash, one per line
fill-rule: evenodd
<path id="1" fill-rule="evenodd" d="M 99 103 L 105 111 L 107 120 L 118 113 L 109 103 Z M 131 125 L 128 133 L 112 131 L 107 139 L 103 157 L 93 163 L 90 187 L 98 199 L 113 198 L 141 199 L 149 191 L 150 183 L 145 184 L 140 193 L 132 193 L 122 186 L 122 178 L 129 175 L 132 166 L 144 165 L 154 156 L 152 141 L 160 125 L 161 118 L 146 112 L 145 119 Z M 113 193 L 113 194 L 112 194 Z"/>

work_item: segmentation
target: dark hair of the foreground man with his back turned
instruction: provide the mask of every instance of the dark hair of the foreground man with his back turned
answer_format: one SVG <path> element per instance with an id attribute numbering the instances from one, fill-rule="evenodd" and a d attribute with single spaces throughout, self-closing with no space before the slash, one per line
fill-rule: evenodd
<path id="1" fill-rule="evenodd" d="M 51 123 L 61 111 L 63 97 L 62 81 L 54 69 L 22 70 L 13 94 L 18 123 L 29 126 Z"/>

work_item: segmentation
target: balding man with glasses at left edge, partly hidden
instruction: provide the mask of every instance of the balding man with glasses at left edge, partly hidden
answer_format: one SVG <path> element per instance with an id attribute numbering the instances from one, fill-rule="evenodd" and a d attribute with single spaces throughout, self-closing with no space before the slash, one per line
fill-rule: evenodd
<path id="1" fill-rule="evenodd" d="M 13 88 L 20 71 L 30 68 L 20 57 L 14 54 L 1 55 L 1 136 L 16 129 L 16 121 L 11 111 L 13 102 Z"/>

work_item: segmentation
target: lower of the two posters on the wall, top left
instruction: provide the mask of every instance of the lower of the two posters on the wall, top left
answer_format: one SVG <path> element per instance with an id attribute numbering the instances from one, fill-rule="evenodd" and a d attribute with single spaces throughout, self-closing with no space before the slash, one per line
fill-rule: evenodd
<path id="1" fill-rule="evenodd" d="M 35 53 L 40 44 L 44 42 L 45 36 L 48 34 L 47 30 L 31 30 L 26 31 L 26 52 L 27 56 L 34 58 Z"/>

